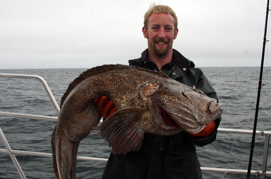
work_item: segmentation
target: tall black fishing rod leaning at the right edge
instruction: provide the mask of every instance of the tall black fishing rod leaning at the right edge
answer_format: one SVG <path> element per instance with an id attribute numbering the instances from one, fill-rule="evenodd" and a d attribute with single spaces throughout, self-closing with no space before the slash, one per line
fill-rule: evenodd
<path id="1" fill-rule="evenodd" d="M 256 126 L 257 126 L 257 118 L 258 118 L 258 111 L 259 111 L 259 102 L 260 102 L 260 94 L 261 94 L 261 87 L 262 85 L 262 76 L 263 76 L 263 66 L 264 66 L 264 51 L 265 51 L 265 44 L 266 40 L 266 31 L 267 31 L 267 20 L 268 20 L 268 12 L 269 12 L 269 0 L 267 0 L 267 6 L 266 6 L 266 19 L 265 19 L 265 28 L 264 28 L 264 44 L 263 44 L 263 52 L 261 56 L 261 70 L 260 70 L 260 77 L 259 77 L 259 86 L 258 86 L 258 96 L 257 96 L 257 103 L 256 103 L 256 111 L 255 111 L 255 119 L 254 119 L 254 127 L 253 127 L 253 133 L 252 133 L 252 140 L 251 140 L 251 150 L 250 150 L 250 156 L 249 156 L 249 166 L 247 169 L 247 176 L 246 179 L 250 178 L 251 173 L 251 164 L 252 164 L 252 157 L 253 157 L 253 150 L 255 146 L 255 135 L 256 135 Z"/>

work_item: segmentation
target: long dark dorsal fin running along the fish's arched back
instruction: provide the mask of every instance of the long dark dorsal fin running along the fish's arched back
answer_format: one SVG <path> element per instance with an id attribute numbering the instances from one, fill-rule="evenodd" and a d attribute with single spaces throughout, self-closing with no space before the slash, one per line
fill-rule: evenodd
<path id="1" fill-rule="evenodd" d="M 65 101 L 65 99 L 67 98 L 67 96 L 69 95 L 69 93 L 78 85 L 80 84 L 82 81 L 84 81 L 85 79 L 99 74 L 99 73 L 104 73 L 104 72 L 108 72 L 111 70 L 131 70 L 131 69 L 140 69 L 140 70 L 145 70 L 148 71 L 150 73 L 154 73 L 162 78 L 168 78 L 168 76 L 164 73 L 161 72 L 155 72 L 155 71 L 151 71 L 145 68 L 140 68 L 140 67 L 136 67 L 136 66 L 127 66 L 127 65 L 121 65 L 121 64 L 116 64 L 116 65 L 102 65 L 102 66 L 97 66 L 97 67 L 93 67 L 91 69 L 88 69 L 86 71 L 84 71 L 82 74 L 79 75 L 79 77 L 77 77 L 76 79 L 74 79 L 73 82 L 71 82 L 69 84 L 69 87 L 67 89 L 67 91 L 64 93 L 64 95 L 61 98 L 60 101 L 60 109 Z"/>

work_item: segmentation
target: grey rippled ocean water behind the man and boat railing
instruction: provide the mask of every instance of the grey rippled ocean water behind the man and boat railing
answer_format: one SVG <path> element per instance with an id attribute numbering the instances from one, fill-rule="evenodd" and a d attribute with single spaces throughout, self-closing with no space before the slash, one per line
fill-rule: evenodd
<path id="1" fill-rule="evenodd" d="M 1 73 L 36 74 L 43 77 L 58 104 L 69 83 L 86 69 L 23 69 L 0 70 Z M 224 113 L 220 128 L 253 129 L 257 101 L 259 67 L 202 68 L 222 103 Z M 264 68 L 257 130 L 271 131 L 271 67 Z M 0 78 L 0 111 L 57 116 L 42 83 L 33 79 Z M 0 116 L 0 127 L 13 150 L 51 153 L 50 139 L 56 122 Z M 261 170 L 264 137 L 256 136 L 252 170 Z M 217 139 L 197 147 L 202 167 L 247 169 L 251 135 L 218 133 Z M 5 149 L 0 141 L 0 148 Z M 81 143 L 78 156 L 108 158 L 110 148 L 100 135 L 91 134 Z M 271 171 L 271 154 L 267 170 Z M 16 154 L 27 178 L 55 178 L 52 158 Z M 77 178 L 101 178 L 105 162 L 77 161 Z M 203 172 L 203 178 L 221 179 L 222 173 Z M 0 153 L 0 178 L 20 178 L 10 156 Z M 246 175 L 227 174 L 226 178 L 246 178 Z M 260 176 L 251 175 L 251 178 Z M 266 177 L 271 178 L 271 177 Z"/>

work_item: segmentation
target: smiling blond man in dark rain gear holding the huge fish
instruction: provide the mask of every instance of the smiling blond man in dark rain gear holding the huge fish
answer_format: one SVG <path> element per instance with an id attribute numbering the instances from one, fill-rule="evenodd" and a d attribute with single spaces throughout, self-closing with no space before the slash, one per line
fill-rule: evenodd
<path id="1" fill-rule="evenodd" d="M 148 49 L 139 59 L 129 60 L 129 65 L 163 71 L 170 78 L 202 90 L 211 98 L 216 92 L 202 70 L 172 48 L 178 34 L 177 17 L 168 6 L 153 5 L 144 16 L 142 32 L 147 38 Z M 102 116 L 107 118 L 116 108 L 106 96 L 95 99 Z M 110 111 L 111 110 L 111 111 Z M 161 111 L 164 118 L 170 116 Z M 195 145 L 205 146 L 216 138 L 220 119 L 217 119 L 196 135 L 185 131 L 164 136 L 145 133 L 142 147 L 125 155 L 110 154 L 102 179 L 158 179 L 202 178 Z"/>

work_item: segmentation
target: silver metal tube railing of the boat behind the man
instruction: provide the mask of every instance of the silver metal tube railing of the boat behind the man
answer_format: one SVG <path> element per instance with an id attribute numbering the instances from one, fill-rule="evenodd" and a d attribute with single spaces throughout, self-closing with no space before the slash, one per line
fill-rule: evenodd
<path id="1" fill-rule="evenodd" d="M 54 108 L 56 109 L 57 113 L 59 114 L 59 106 L 44 78 L 38 75 L 26 75 L 26 74 L 7 74 L 7 73 L 0 73 L 0 77 L 7 77 L 7 78 L 24 78 L 24 79 L 37 79 L 42 82 Z M 31 115 L 31 114 L 22 114 L 22 113 L 9 113 L 9 112 L 0 112 L 1 116 L 9 116 L 9 117 L 17 117 L 17 118 L 30 118 L 30 119 L 38 119 L 38 120 L 51 120 L 57 121 L 57 117 L 52 116 L 44 116 L 44 115 Z M 102 122 L 102 120 L 100 121 Z M 219 133 L 236 133 L 236 134 L 248 134 L 252 135 L 252 130 L 242 130 L 242 129 L 229 129 L 229 128 L 218 128 L 217 130 Z M 251 170 L 251 175 L 260 175 L 261 179 L 264 179 L 265 176 L 271 176 L 271 171 L 266 171 L 267 166 L 267 158 L 268 158 L 268 148 L 269 148 L 269 141 L 271 131 L 256 131 L 256 135 L 265 136 L 264 142 L 264 154 L 263 154 L 263 162 L 262 162 L 262 169 L 261 171 Z M 0 152 L 8 153 L 20 175 L 21 178 L 26 178 L 25 174 L 23 173 L 16 157 L 14 154 L 25 154 L 25 155 L 34 155 L 34 156 L 43 156 L 43 157 L 52 157 L 51 153 L 42 153 L 42 152 L 29 152 L 23 150 L 12 150 L 10 148 L 7 139 L 0 127 L 0 137 L 5 145 L 6 149 L 0 149 Z M 108 159 L 103 158 L 95 158 L 95 157 L 84 157 L 84 156 L 77 156 L 77 160 L 85 160 L 85 161 L 103 161 L 107 162 Z M 202 171 L 205 172 L 217 172 L 217 173 L 227 173 L 227 174 L 247 174 L 247 170 L 245 169 L 226 169 L 226 168 L 214 168 L 214 167 L 201 167 Z"/>

